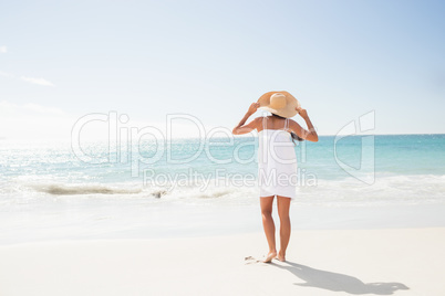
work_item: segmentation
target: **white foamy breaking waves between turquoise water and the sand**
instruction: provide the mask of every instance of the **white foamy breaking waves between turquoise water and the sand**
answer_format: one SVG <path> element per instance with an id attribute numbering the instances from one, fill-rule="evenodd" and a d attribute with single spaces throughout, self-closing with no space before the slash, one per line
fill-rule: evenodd
<path id="1" fill-rule="evenodd" d="M 373 184 L 354 178 L 318 180 L 317 186 L 298 187 L 296 203 L 329 207 L 366 204 L 424 204 L 445 203 L 445 176 L 377 176 Z M 234 186 L 230 182 L 210 180 L 207 186 L 144 186 L 142 182 L 63 183 L 38 179 L 15 180 L 3 183 L 0 192 L 33 197 L 89 197 L 112 199 L 156 199 L 159 202 L 255 204 L 257 187 Z"/>

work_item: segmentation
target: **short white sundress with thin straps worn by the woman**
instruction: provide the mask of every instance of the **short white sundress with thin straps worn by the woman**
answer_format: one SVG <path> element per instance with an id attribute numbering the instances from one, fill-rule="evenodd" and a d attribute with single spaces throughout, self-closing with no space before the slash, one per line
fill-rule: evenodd
<path id="1" fill-rule="evenodd" d="M 294 199 L 297 156 L 286 119 L 282 129 L 267 129 L 267 117 L 262 118 L 262 130 L 258 133 L 258 184 L 260 197 L 280 195 Z"/>

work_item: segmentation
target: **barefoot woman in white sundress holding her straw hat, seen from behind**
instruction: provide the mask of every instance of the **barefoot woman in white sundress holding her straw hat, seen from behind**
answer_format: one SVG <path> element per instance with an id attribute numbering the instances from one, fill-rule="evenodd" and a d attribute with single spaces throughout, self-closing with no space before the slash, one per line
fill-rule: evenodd
<path id="1" fill-rule="evenodd" d="M 246 125 L 246 120 L 257 109 L 270 112 L 271 116 L 258 117 Z M 300 114 L 308 125 L 302 128 L 290 117 Z M 306 109 L 288 92 L 269 92 L 257 103 L 252 103 L 234 128 L 234 135 L 242 135 L 258 130 L 258 181 L 260 188 L 260 205 L 262 226 L 265 229 L 269 252 L 263 262 L 272 258 L 286 261 L 286 249 L 290 239 L 289 208 L 296 198 L 297 157 L 293 140 L 318 141 L 318 135 Z M 277 253 L 275 223 L 272 219 L 273 198 L 277 197 L 278 215 L 280 218 L 280 251 Z"/>

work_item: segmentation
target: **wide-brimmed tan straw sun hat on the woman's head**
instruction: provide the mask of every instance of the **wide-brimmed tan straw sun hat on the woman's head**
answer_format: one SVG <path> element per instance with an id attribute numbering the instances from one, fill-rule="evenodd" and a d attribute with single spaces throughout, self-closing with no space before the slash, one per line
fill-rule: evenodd
<path id="1" fill-rule="evenodd" d="M 268 110 L 278 116 L 290 118 L 297 115 L 296 107 L 300 107 L 300 102 L 286 91 L 269 92 L 259 99 L 258 109 Z"/>

